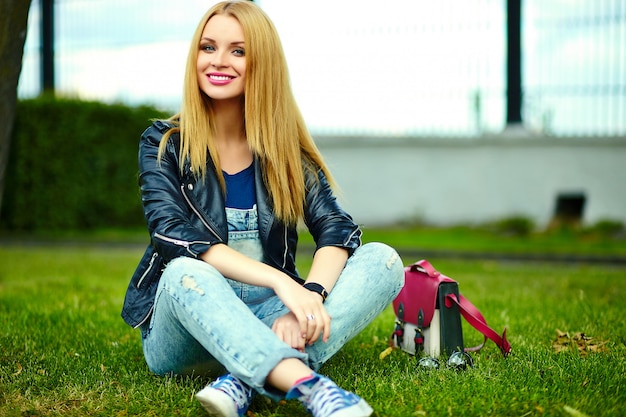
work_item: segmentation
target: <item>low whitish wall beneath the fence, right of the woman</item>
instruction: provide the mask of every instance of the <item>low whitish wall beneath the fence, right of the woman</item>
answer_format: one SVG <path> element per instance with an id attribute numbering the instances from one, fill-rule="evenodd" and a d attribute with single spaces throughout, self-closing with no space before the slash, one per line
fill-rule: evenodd
<path id="1" fill-rule="evenodd" d="M 365 226 L 451 225 L 515 215 L 539 227 L 557 195 L 584 193 L 583 222 L 626 223 L 626 137 L 332 138 L 316 142 Z"/>

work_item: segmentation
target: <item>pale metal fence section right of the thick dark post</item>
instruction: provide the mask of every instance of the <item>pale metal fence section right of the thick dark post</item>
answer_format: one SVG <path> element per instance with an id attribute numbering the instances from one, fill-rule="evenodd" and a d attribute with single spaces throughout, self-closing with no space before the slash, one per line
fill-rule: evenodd
<path id="1" fill-rule="evenodd" d="M 555 135 L 626 135 L 626 1 L 525 4 L 527 124 Z"/>

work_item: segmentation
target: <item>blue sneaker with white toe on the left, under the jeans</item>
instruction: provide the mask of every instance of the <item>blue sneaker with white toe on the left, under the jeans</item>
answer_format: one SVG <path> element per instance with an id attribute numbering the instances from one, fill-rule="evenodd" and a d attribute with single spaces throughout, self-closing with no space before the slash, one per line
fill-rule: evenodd
<path id="1" fill-rule="evenodd" d="M 243 417 L 253 394 L 239 378 L 226 374 L 198 391 L 196 398 L 212 417 Z"/>

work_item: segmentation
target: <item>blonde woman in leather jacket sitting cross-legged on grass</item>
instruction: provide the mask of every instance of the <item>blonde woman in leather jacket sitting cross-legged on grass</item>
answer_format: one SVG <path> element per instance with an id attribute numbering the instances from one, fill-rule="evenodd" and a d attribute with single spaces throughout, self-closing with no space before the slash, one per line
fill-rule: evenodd
<path id="1" fill-rule="evenodd" d="M 196 395 L 211 415 L 242 416 L 261 393 L 316 417 L 369 416 L 315 371 L 400 291 L 402 262 L 361 246 L 338 206 L 256 5 L 224 2 L 202 18 L 181 111 L 144 132 L 139 169 L 151 244 L 122 315 L 141 329 L 149 368 L 219 376 Z M 300 221 L 316 242 L 306 279 Z"/>

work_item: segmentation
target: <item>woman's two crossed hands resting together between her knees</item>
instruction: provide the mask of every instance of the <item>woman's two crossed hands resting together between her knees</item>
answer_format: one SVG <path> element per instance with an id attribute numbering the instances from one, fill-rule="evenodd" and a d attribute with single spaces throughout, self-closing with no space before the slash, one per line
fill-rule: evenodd
<path id="1" fill-rule="evenodd" d="M 305 345 L 315 343 L 320 335 L 324 342 L 328 341 L 331 318 L 319 294 L 292 280 L 284 281 L 274 291 L 290 310 L 272 325 L 272 330 L 282 341 L 300 351 L 304 351 Z"/>

